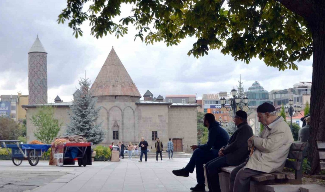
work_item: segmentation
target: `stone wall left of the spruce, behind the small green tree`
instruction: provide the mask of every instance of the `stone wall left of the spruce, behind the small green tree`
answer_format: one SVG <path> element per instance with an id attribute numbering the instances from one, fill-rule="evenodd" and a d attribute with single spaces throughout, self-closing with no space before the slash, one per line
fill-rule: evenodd
<path id="1" fill-rule="evenodd" d="M 58 119 L 60 122 L 63 122 L 58 136 L 63 136 L 63 134 L 67 128 L 67 124 L 70 123 L 70 116 L 68 114 L 68 111 L 70 111 L 69 107 L 57 107 L 55 109 L 54 118 Z M 36 139 L 36 137 L 34 136 L 34 133 L 33 133 L 36 130 L 36 127 L 32 124 L 31 118 L 32 118 L 32 115 L 36 114 L 37 112 L 38 112 L 37 108 L 28 108 L 27 109 L 27 114 L 26 114 L 27 143 Z"/>

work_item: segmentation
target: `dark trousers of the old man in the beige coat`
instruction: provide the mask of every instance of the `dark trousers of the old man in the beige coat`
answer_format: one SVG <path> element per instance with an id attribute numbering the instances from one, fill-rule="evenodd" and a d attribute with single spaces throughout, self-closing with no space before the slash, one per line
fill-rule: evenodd
<path id="1" fill-rule="evenodd" d="M 246 162 L 237 166 L 230 173 L 229 192 L 247 192 L 250 190 L 251 176 L 264 173 L 246 168 Z"/>

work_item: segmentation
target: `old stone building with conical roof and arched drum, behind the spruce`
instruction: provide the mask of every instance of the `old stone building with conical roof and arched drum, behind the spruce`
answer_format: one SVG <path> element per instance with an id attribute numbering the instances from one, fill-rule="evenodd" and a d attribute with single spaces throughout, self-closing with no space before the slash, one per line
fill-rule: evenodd
<path id="1" fill-rule="evenodd" d="M 148 141 L 150 150 L 155 150 L 156 137 L 164 143 L 164 148 L 168 138 L 173 138 L 175 151 L 190 151 L 189 146 L 197 144 L 196 108 L 199 105 L 151 101 L 149 91 L 144 95 L 148 99 L 140 100 L 141 94 L 113 48 L 90 90 L 98 99 L 97 106 L 101 107 L 98 122 L 102 122 L 106 133 L 102 145 L 118 141 L 138 143 L 141 136 Z M 73 102 L 46 105 L 56 107 L 54 116 L 64 122 L 60 131 L 63 134 L 70 122 L 68 112 Z M 24 106 L 27 108 L 28 141 L 35 139 L 35 127 L 29 119 L 38 106 L 41 105 Z"/>

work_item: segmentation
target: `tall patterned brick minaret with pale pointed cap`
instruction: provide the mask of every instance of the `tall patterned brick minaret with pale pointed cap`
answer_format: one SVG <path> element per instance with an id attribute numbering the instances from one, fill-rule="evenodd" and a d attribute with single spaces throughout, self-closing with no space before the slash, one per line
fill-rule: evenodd
<path id="1" fill-rule="evenodd" d="M 28 104 L 47 103 L 47 53 L 37 38 L 28 51 Z"/>

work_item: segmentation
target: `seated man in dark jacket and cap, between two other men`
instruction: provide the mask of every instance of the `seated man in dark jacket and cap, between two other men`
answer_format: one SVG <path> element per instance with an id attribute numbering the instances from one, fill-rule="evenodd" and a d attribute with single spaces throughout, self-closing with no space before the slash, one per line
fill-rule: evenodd
<path id="1" fill-rule="evenodd" d="M 253 129 L 247 123 L 247 113 L 239 110 L 233 117 L 237 130 L 231 135 L 227 146 L 219 151 L 219 157 L 205 164 L 209 192 L 220 192 L 219 172 L 221 167 L 237 166 L 248 158 L 247 140 L 253 136 Z"/>

